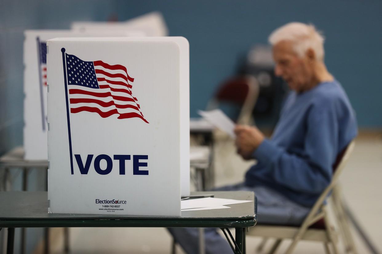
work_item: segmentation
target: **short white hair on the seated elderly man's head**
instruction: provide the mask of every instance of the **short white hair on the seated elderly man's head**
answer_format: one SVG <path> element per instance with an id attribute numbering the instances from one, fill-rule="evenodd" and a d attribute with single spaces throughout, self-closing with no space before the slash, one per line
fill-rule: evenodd
<path id="1" fill-rule="evenodd" d="M 309 24 L 290 22 L 274 30 L 269 35 L 268 41 L 275 45 L 280 41 L 289 40 L 293 42 L 293 49 L 299 57 L 303 57 L 311 48 L 319 61 L 324 61 L 324 37 Z"/>

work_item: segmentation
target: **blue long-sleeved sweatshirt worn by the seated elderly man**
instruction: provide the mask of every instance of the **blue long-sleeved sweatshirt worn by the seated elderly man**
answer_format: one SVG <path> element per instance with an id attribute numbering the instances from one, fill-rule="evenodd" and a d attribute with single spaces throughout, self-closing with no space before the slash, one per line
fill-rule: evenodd
<path id="1" fill-rule="evenodd" d="M 357 135 L 355 113 L 338 81 L 291 91 L 270 139 L 254 151 L 249 186 L 266 185 L 303 206 L 312 206 L 329 185 L 332 166 Z"/>

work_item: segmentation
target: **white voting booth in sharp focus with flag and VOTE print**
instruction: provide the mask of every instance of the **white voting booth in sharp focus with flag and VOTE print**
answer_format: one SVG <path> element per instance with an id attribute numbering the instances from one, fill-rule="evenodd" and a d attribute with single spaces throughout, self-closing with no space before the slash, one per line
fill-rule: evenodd
<path id="1" fill-rule="evenodd" d="M 47 42 L 49 212 L 180 216 L 188 54 L 183 37 Z"/>

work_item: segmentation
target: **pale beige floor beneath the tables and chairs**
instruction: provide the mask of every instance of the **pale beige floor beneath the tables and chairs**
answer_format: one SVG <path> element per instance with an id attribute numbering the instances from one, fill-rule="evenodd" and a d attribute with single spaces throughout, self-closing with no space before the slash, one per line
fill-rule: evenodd
<path id="1" fill-rule="evenodd" d="M 239 182 L 251 163 L 235 155 L 233 142 L 221 139 L 215 149 L 216 185 Z M 348 206 L 372 243 L 382 251 L 382 135 L 359 137 L 340 182 Z M 354 234 L 359 253 L 370 253 Z M 62 236 L 52 237 L 52 253 L 63 253 Z M 71 253 L 170 253 L 171 238 L 164 228 L 71 228 Z M 261 240 L 247 238 L 247 252 L 256 253 Z M 267 246 L 270 246 L 271 241 Z M 288 246 L 285 241 L 278 253 Z M 340 246 L 341 248 L 341 246 Z M 343 249 L 342 253 L 343 252 Z M 177 247 L 177 253 L 184 252 Z M 301 242 L 296 254 L 324 253 L 322 244 Z"/>

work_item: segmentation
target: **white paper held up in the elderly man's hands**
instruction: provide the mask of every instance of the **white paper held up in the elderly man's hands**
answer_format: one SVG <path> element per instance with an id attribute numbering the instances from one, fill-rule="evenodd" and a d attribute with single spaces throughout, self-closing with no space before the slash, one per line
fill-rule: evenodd
<path id="1" fill-rule="evenodd" d="M 223 113 L 220 109 L 214 109 L 210 111 L 198 110 L 197 112 L 204 119 L 209 121 L 212 125 L 226 132 L 231 137 L 235 138 L 235 133 L 233 130 L 235 129 L 235 123 L 227 117 L 225 113 Z"/>

